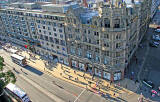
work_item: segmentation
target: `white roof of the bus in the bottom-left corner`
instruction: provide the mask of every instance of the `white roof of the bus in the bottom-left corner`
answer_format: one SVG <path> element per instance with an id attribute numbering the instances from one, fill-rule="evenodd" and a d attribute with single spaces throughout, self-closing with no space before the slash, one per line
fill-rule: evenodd
<path id="1" fill-rule="evenodd" d="M 18 88 L 15 84 L 9 83 L 6 86 L 6 88 L 8 88 L 12 92 L 14 92 L 20 98 L 22 98 L 24 95 L 26 95 L 26 93 L 23 90 L 21 90 L 20 88 Z"/>

